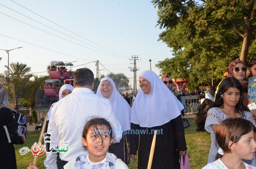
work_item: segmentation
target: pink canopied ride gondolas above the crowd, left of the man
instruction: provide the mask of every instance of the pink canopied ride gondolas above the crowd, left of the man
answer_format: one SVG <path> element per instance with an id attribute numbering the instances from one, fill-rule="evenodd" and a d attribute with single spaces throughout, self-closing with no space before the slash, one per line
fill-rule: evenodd
<path id="1" fill-rule="evenodd" d="M 72 63 L 64 63 L 62 61 L 54 61 L 48 66 L 50 78 L 46 80 L 44 86 L 44 94 L 47 97 L 58 98 L 60 87 L 64 84 L 73 84 Z M 68 68 L 67 68 L 68 67 Z M 64 79 L 61 83 L 60 79 Z M 66 80 L 65 80 L 66 79 Z"/>

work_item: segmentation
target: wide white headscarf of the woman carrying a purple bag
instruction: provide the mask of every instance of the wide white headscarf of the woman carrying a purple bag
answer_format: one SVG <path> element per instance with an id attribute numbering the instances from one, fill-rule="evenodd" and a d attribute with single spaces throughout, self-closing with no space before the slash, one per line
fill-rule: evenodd
<path id="1" fill-rule="evenodd" d="M 140 127 L 161 126 L 178 117 L 184 106 L 153 71 L 143 71 L 139 77 L 151 83 L 149 94 L 140 88 L 132 105 L 131 122 Z"/>

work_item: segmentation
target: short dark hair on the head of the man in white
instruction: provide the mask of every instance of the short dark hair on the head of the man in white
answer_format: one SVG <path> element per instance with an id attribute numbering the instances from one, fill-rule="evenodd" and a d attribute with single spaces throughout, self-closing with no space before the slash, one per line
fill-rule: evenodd
<path id="1" fill-rule="evenodd" d="M 77 69 L 73 75 L 76 86 L 91 86 L 94 82 L 94 74 L 90 69 Z"/>

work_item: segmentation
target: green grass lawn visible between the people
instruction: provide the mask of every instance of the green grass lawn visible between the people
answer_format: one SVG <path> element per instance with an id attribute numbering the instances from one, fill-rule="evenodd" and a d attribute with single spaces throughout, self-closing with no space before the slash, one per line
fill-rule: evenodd
<path id="1" fill-rule="evenodd" d="M 190 155 L 191 169 L 201 169 L 207 163 L 208 153 L 210 149 L 211 138 L 207 132 L 195 132 L 196 124 L 194 118 L 190 118 L 189 122 L 191 126 L 185 129 L 186 143 L 188 147 L 188 154 Z M 16 151 L 16 160 L 18 169 L 26 169 L 29 163 L 33 162 L 34 156 L 31 151 L 20 154 L 20 149 L 28 147 L 31 149 L 35 142 L 38 142 L 40 133 L 32 134 L 28 132 L 26 142 L 23 145 L 14 145 Z M 36 165 L 39 169 L 44 169 L 45 153 L 38 156 Z M 130 169 L 137 168 L 137 161 L 130 161 L 128 165 Z"/>

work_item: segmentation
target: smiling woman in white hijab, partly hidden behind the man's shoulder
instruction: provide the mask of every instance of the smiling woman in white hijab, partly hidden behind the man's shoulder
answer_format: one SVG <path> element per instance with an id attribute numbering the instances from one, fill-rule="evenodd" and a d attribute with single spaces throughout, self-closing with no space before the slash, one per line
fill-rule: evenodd
<path id="1" fill-rule="evenodd" d="M 130 130 L 130 111 L 131 108 L 128 102 L 117 91 L 114 81 L 110 77 L 104 77 L 100 80 L 97 93 L 100 96 L 108 99 L 113 107 L 114 113 L 118 122 L 121 124 L 122 131 L 126 133 Z M 129 136 L 129 135 L 128 135 Z M 122 159 L 124 163 L 128 164 L 129 156 L 126 145 L 126 135 L 123 134 L 119 143 L 110 145 L 108 151 L 116 155 L 117 158 Z M 130 143 L 129 137 L 127 137 L 128 144 Z"/>

